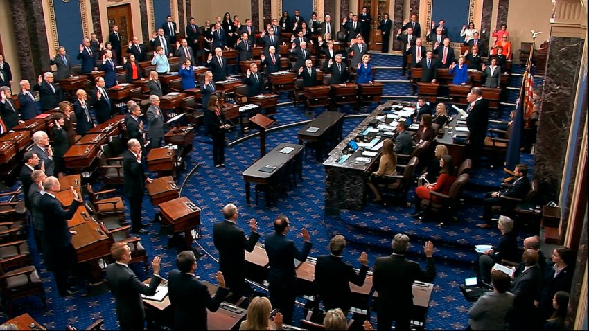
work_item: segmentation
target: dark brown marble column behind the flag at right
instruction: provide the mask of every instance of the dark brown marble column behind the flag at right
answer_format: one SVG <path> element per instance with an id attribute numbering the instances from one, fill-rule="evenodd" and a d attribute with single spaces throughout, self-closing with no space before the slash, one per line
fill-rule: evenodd
<path id="1" fill-rule="evenodd" d="M 534 179 L 544 201 L 558 201 L 584 40 L 551 35 L 538 125 Z"/>

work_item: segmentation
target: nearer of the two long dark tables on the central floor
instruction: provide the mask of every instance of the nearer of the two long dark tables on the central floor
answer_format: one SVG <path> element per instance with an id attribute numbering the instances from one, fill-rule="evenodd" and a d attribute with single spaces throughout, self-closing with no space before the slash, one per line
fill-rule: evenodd
<path id="1" fill-rule="evenodd" d="M 292 147 L 294 150 L 288 154 L 281 153 L 284 147 Z M 250 203 L 250 183 L 257 183 L 257 184 L 267 184 L 270 182 L 270 178 L 273 175 L 276 175 L 280 168 L 285 166 L 288 162 L 294 160 L 297 157 L 297 154 L 303 150 L 303 145 L 294 145 L 292 143 L 281 143 L 278 146 L 274 147 L 268 154 L 263 156 L 263 158 L 256 161 L 256 163 L 252 164 L 247 168 L 244 172 L 241 173 L 243 175 L 243 180 L 245 181 L 245 201 L 247 204 Z M 272 172 L 263 172 L 260 169 L 264 168 L 266 165 L 274 165 L 276 169 Z"/>

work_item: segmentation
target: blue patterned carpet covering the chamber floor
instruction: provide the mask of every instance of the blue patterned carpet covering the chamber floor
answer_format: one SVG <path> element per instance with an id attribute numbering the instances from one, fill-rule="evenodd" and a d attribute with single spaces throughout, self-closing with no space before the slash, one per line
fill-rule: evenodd
<path id="1" fill-rule="evenodd" d="M 387 55 L 373 55 L 372 62 L 376 66 L 401 66 L 401 57 Z M 515 66 L 514 72 L 518 72 Z M 404 79 L 399 69 L 379 69 L 376 73 L 378 80 Z M 521 78 L 510 79 L 511 87 L 518 87 Z M 408 83 L 385 83 L 385 95 L 409 96 L 411 92 Z M 281 102 L 288 101 L 286 94 L 281 95 Z M 514 102 L 517 91 L 507 91 L 507 102 Z M 363 112 L 368 113 L 375 105 L 364 107 Z M 500 120 L 509 120 L 509 110 L 513 107 L 502 106 Z M 342 108 L 345 113 L 353 112 L 350 107 Z M 302 111 L 295 109 L 293 105 L 280 107 L 276 114 L 279 125 L 294 123 L 308 119 Z M 344 136 L 360 123 L 361 118 L 349 118 L 344 122 Z M 297 143 L 297 130 L 299 127 L 291 127 L 267 135 L 267 149 L 279 143 Z M 238 133 L 229 134 L 228 141 L 238 138 Z M 468 197 L 468 206 L 459 212 L 459 222 L 448 224 L 439 228 L 434 223 L 420 223 L 410 217 L 412 209 L 376 204 L 367 204 L 364 211 L 343 211 L 338 216 L 324 217 L 324 168 L 320 163 L 314 162 L 313 155 L 309 155 L 304 161 L 302 185 L 288 193 L 288 199 L 279 200 L 278 206 L 265 208 L 265 201 L 260 205 L 245 205 L 245 186 L 241 172 L 253 163 L 258 157 L 258 138 L 244 141 L 225 152 L 226 168 L 213 167 L 212 144 L 209 138 L 195 135 L 194 149 L 186 159 L 186 169 L 191 170 L 200 163 L 200 168 L 188 179 L 188 171 L 179 174 L 177 182 L 182 184 L 186 180 L 184 193 L 197 206 L 202 208 L 202 238 L 198 243 L 210 256 L 199 260 L 197 274 L 202 280 L 216 283 L 213 274 L 218 270 L 218 252 L 214 248 L 212 240 L 213 222 L 222 220 L 220 210 L 229 202 L 235 203 L 240 208 L 240 223 L 243 229 L 247 229 L 246 220 L 254 217 L 258 221 L 259 231 L 268 233 L 272 231 L 272 222 L 276 215 L 283 213 L 290 218 L 292 231 L 289 236 L 297 244 L 302 239 L 297 233 L 303 227 L 309 230 L 311 241 L 314 243 L 312 256 L 328 253 L 328 240 L 334 233 L 342 233 L 349 240 L 349 247 L 344 252 L 345 260 L 358 266 L 357 258 L 361 251 L 369 253 L 369 265 L 373 265 L 378 256 L 388 255 L 390 241 L 395 233 L 403 232 L 410 235 L 410 258 L 419 260 L 423 265 L 423 242 L 432 240 L 436 247 L 434 258 L 437 261 L 437 278 L 434 281 L 434 292 L 428 312 L 426 328 L 428 330 L 464 330 L 468 324 L 466 311 L 470 307 L 459 292 L 459 285 L 464 278 L 473 275 L 472 263 L 476 254 L 473 245 L 497 241 L 500 232 L 498 230 L 483 231 L 475 227 L 477 217 L 482 214 L 482 197 L 484 192 L 496 188 L 504 172 L 500 168 L 482 168 L 474 170 L 471 182 L 468 184 L 465 196 Z M 533 156 L 522 154 L 522 161 L 531 165 Z M 118 188 L 120 190 L 120 188 Z M 410 199 L 412 199 L 410 193 Z M 410 200 L 411 201 L 411 200 Z M 149 222 L 155 211 L 151 202 L 144 199 L 143 221 Z M 128 216 L 128 215 L 127 215 Z M 162 259 L 162 275 L 175 268 L 174 249 L 164 249 L 168 238 L 160 236 L 159 224 L 154 224 L 147 235 L 141 235 L 143 246 L 146 247 L 150 257 L 159 255 Z M 520 233 L 524 238 L 527 233 Z M 261 242 L 264 240 L 264 235 Z M 67 323 L 73 323 L 78 328 L 84 328 L 98 318 L 105 319 L 105 330 L 118 328 L 118 322 L 114 313 L 113 298 L 109 292 L 82 298 L 80 295 L 72 298 L 60 298 L 55 289 L 52 274 L 44 269 L 42 258 L 35 249 L 34 240 L 29 240 L 33 251 L 35 266 L 43 278 L 48 299 L 48 310 L 44 312 L 38 298 L 26 298 L 17 301 L 15 314 L 28 312 L 39 323 L 52 330 L 62 330 Z M 140 279 L 147 278 L 141 265 L 132 266 Z M 302 300 L 302 299 L 301 299 Z M 297 307 L 294 321 L 302 318 L 302 309 Z M 372 316 L 374 320 L 374 316 Z M 295 323 L 297 325 L 298 323 Z"/>

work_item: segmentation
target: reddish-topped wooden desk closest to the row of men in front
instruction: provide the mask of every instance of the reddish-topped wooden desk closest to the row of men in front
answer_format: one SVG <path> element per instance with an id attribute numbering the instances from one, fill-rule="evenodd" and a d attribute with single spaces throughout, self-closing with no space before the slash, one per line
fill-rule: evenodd
<path id="1" fill-rule="evenodd" d="M 184 232 L 184 249 L 191 249 L 194 240 L 191 231 L 200 233 L 200 208 L 187 197 L 179 197 L 159 204 L 162 220 L 176 232 Z"/>

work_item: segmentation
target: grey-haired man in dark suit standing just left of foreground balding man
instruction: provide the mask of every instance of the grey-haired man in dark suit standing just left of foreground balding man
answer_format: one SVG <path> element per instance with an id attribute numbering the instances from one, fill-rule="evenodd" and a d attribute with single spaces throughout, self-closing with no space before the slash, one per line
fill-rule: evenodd
<path id="1" fill-rule="evenodd" d="M 258 222 L 249 220 L 249 239 L 237 226 L 238 209 L 234 204 L 227 204 L 222 209 L 225 220 L 213 225 L 213 242 L 219 251 L 220 271 L 231 291 L 231 302 L 236 302 L 245 289 L 245 251 L 254 251 L 260 234 Z"/>

